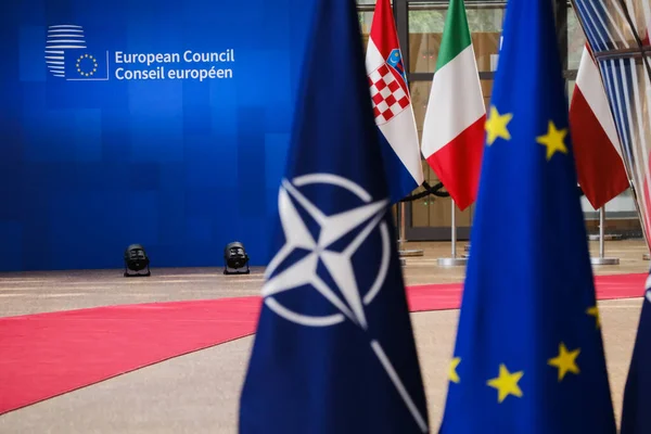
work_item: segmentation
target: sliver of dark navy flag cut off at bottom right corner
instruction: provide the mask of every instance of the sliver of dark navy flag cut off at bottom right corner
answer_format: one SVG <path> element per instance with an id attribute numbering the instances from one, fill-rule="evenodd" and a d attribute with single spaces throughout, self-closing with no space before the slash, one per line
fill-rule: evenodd
<path id="1" fill-rule="evenodd" d="M 624 388 L 622 434 L 651 433 L 651 275 Z"/>

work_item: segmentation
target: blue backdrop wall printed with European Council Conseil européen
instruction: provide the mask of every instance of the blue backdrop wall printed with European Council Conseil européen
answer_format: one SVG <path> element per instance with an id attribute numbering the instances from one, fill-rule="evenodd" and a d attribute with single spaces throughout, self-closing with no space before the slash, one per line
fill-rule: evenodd
<path id="1" fill-rule="evenodd" d="M 301 0 L 0 5 L 0 270 L 268 260 Z"/>

